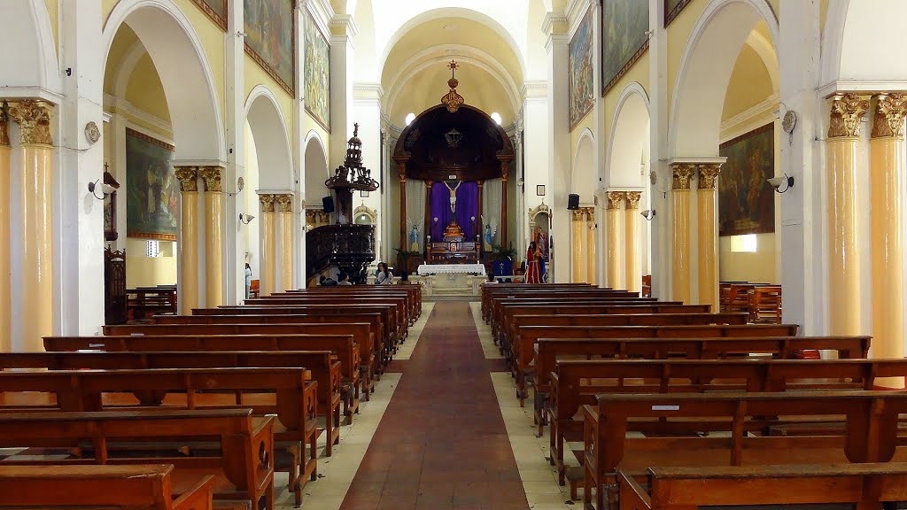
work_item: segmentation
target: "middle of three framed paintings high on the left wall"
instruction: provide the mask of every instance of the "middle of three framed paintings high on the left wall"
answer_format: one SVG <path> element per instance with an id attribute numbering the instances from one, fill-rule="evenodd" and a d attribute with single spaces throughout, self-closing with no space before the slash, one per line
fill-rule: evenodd
<path id="1" fill-rule="evenodd" d="M 296 0 L 243 0 L 246 53 L 296 97 Z"/>

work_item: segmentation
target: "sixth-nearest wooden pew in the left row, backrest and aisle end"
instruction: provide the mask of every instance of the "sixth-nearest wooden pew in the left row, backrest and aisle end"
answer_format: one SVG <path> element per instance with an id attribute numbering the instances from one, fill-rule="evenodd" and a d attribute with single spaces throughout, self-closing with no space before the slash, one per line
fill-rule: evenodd
<path id="1" fill-rule="evenodd" d="M 352 335 L 359 346 L 361 387 L 369 399 L 375 391 L 375 364 L 380 359 L 375 355 L 376 335 L 372 334 L 371 325 L 366 322 L 331 323 L 244 323 L 244 324 L 136 324 L 129 326 L 104 326 L 105 336 L 154 336 L 180 335 Z M 193 349 L 195 350 L 195 349 Z M 298 349 L 295 349 L 298 350 Z"/>

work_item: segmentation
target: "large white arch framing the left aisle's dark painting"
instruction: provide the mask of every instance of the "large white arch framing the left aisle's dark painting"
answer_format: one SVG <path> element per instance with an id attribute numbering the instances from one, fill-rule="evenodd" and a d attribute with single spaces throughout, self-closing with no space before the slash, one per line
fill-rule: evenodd
<path id="1" fill-rule="evenodd" d="M 161 77 L 178 159 L 226 161 L 219 98 L 199 35 L 189 19 L 172 0 L 122 0 L 104 25 L 104 67 L 113 38 L 124 23 L 139 36 Z"/>

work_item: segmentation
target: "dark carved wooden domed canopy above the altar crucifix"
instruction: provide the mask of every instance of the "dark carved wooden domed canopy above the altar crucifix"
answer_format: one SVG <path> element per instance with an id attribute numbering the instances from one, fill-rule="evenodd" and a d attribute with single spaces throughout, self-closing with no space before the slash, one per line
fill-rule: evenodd
<path id="1" fill-rule="evenodd" d="M 502 177 L 513 159 L 507 133 L 482 110 L 463 104 L 456 113 L 444 104 L 429 108 L 406 126 L 394 150 L 405 177 L 420 181 L 479 181 Z"/>

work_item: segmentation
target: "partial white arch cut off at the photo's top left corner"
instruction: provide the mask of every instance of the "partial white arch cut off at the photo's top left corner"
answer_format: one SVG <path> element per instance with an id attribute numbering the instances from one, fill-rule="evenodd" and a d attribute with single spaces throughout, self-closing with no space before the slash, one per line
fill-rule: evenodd
<path id="1" fill-rule="evenodd" d="M 0 51 L 0 85 L 24 94 L 22 89 L 44 89 L 51 96 L 62 93 L 60 65 L 57 61 L 54 29 L 47 6 L 42 0 L 24 0 L 4 3 L 4 30 L 8 41 Z M 53 98 L 54 103 L 59 103 Z"/>

